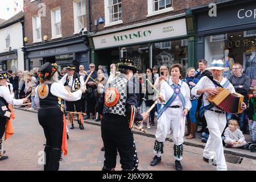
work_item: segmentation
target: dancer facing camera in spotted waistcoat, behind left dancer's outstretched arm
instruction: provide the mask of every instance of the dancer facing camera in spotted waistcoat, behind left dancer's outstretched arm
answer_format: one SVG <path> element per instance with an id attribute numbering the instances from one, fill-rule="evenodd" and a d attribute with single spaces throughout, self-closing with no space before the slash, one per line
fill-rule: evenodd
<path id="1" fill-rule="evenodd" d="M 68 66 L 67 67 L 68 73 L 64 75 L 60 82 L 66 86 L 71 92 L 75 92 L 76 90 L 79 90 L 81 85 L 84 85 L 84 78 L 82 76 L 79 76 L 79 73 L 76 73 L 76 67 L 75 66 Z M 67 105 L 67 111 L 77 111 L 81 112 L 82 111 L 82 100 L 77 100 L 77 101 L 66 101 L 65 102 Z M 70 129 L 74 129 L 74 121 L 71 119 L 71 127 Z M 79 128 L 80 130 L 84 130 L 84 125 L 81 122 L 81 119 L 77 118 L 77 121 L 79 123 Z"/>

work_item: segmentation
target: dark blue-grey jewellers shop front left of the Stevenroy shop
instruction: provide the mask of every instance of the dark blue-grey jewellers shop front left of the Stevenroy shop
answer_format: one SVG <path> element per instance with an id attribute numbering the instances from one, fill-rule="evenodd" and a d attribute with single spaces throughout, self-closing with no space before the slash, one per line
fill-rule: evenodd
<path id="1" fill-rule="evenodd" d="M 41 67 L 46 62 L 57 63 L 59 71 L 72 64 L 75 64 L 77 69 L 79 69 L 80 64 L 84 65 L 85 69 L 89 69 L 88 47 L 81 38 L 27 46 L 24 52 L 27 55 L 26 61 L 29 66 L 26 68 L 27 70 Z"/>

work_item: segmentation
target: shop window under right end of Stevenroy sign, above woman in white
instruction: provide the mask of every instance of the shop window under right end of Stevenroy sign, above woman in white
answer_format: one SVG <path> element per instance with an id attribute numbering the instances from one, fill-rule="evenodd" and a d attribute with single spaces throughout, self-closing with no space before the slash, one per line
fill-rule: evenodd
<path id="1" fill-rule="evenodd" d="M 188 46 L 186 46 L 186 42 L 187 39 L 181 39 L 152 44 L 152 65 L 156 65 L 158 68 L 161 65 L 166 65 L 170 68 L 172 64 L 179 63 L 184 71 L 187 71 Z"/>

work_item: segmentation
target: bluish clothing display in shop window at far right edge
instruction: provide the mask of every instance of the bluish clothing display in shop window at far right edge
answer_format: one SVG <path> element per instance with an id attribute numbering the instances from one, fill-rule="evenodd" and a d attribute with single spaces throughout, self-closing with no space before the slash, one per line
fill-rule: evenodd
<path id="1" fill-rule="evenodd" d="M 245 75 L 256 79 L 256 47 L 251 46 L 246 52 L 250 52 L 251 55 L 247 57 L 245 62 Z"/>

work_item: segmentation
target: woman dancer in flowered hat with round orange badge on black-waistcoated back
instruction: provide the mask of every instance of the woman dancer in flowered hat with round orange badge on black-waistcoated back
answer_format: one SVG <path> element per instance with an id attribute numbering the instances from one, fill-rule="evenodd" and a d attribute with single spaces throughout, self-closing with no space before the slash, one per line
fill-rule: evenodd
<path id="1" fill-rule="evenodd" d="M 81 99 L 86 87 L 69 92 L 58 80 L 57 64 L 45 63 L 39 70 L 40 85 L 35 89 L 35 103 L 38 106 L 38 121 L 44 129 L 46 162 L 44 171 L 59 170 L 61 151 L 67 155 L 67 131 L 64 115 L 64 100 Z"/>

